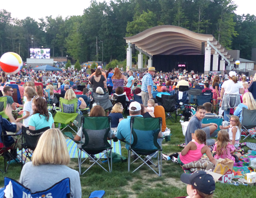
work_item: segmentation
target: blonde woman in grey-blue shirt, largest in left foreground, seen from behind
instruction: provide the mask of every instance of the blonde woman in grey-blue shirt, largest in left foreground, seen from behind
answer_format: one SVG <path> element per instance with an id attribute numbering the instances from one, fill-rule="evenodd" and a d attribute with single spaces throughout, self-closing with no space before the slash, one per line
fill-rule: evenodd
<path id="1" fill-rule="evenodd" d="M 71 197 L 81 197 L 79 173 L 67 167 L 69 162 L 69 152 L 62 132 L 48 129 L 38 141 L 32 162 L 23 166 L 20 183 L 35 193 L 69 177 Z"/>

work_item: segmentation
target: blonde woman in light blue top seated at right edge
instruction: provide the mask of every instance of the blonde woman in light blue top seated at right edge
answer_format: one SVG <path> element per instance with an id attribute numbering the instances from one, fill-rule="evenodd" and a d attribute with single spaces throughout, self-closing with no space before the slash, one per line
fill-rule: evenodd
<path id="1" fill-rule="evenodd" d="M 234 116 L 239 117 L 240 122 L 242 122 L 242 108 L 245 107 L 248 110 L 256 110 L 256 101 L 253 98 L 251 92 L 246 92 L 243 94 L 243 103 L 240 103 L 237 107 L 235 107 Z"/>

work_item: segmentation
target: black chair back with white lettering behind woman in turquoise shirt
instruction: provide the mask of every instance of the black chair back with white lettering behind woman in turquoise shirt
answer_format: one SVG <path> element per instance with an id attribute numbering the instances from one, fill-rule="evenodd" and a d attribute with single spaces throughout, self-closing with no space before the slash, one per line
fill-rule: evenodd
<path id="1" fill-rule="evenodd" d="M 50 129 L 50 127 L 47 126 L 42 129 L 33 131 L 25 126 L 22 126 L 23 145 L 29 149 L 35 150 L 40 136 L 48 129 Z"/>

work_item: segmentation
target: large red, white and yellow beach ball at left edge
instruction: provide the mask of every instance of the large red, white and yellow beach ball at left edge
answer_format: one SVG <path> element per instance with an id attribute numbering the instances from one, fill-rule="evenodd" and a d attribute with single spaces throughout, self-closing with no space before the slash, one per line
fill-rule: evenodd
<path id="1" fill-rule="evenodd" d="M 9 74 L 16 74 L 22 67 L 22 59 L 19 54 L 14 52 L 7 52 L 2 55 L 0 59 L 0 67 L 4 72 Z"/>

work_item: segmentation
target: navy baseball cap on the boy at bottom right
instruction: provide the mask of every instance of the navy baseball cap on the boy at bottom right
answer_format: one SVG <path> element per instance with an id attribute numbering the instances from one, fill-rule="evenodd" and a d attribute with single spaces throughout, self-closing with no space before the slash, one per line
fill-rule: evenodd
<path id="1" fill-rule="evenodd" d="M 214 177 L 202 170 L 195 171 L 192 175 L 183 173 L 180 180 L 207 195 L 215 191 Z"/>

